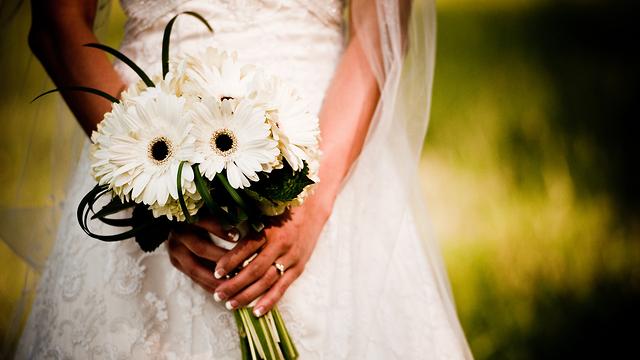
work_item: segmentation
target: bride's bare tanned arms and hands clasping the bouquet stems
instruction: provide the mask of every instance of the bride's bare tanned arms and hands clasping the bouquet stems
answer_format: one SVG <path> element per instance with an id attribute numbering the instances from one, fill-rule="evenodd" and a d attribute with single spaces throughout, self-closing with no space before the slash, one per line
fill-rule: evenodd
<path id="1" fill-rule="evenodd" d="M 56 86 L 93 87 L 119 96 L 125 84 L 107 57 L 100 50 L 82 46 L 98 42 L 92 32 L 96 3 L 32 0 L 32 9 L 29 44 Z M 63 96 L 87 134 L 111 110 L 107 100 L 92 94 L 69 91 Z M 212 217 L 192 225 L 179 224 L 166 243 L 171 263 L 207 292 L 216 294 L 215 298 L 227 302 L 227 307 L 248 305 L 264 294 L 254 313 L 262 315 L 270 310 L 311 257 L 340 185 L 362 150 L 379 97 L 361 36 L 351 28 L 351 38 L 319 115 L 324 155 L 319 173 L 322 181 L 314 195 L 230 251 L 211 243 L 207 232 L 223 239 L 233 235 Z M 258 256 L 237 276 L 224 278 L 257 251 Z M 284 275 L 274 266 L 276 262 L 284 265 Z"/>

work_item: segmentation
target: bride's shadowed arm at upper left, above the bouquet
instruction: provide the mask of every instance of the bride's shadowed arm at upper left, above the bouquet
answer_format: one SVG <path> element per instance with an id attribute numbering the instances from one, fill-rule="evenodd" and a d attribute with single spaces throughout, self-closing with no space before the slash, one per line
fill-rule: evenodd
<path id="1" fill-rule="evenodd" d="M 95 7 L 95 1 L 32 0 L 29 46 L 56 87 L 84 86 L 119 97 L 124 82 L 107 56 L 83 46 L 98 42 Z M 93 94 L 65 91 L 62 96 L 87 134 L 111 111 L 108 100 Z"/>

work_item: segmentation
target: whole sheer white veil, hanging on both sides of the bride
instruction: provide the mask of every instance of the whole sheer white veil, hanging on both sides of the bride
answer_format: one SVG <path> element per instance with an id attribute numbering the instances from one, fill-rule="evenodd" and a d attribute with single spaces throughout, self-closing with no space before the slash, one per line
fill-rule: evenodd
<path id="1" fill-rule="evenodd" d="M 24 40 L 15 51 L 30 54 L 25 32 L 28 26 L 12 21 L 13 15 L 10 15 L 13 9 L 25 11 L 24 8 L 28 8 L 26 5 L 20 7 L 21 2 L 2 1 L 0 25 L 2 34 L 7 33 L 5 28 L 20 31 Z M 109 3 L 109 0 L 99 0 L 98 30 L 106 28 Z M 354 346 L 366 349 L 367 341 L 375 341 L 372 338 L 376 336 L 373 331 L 376 317 L 382 311 L 383 298 L 391 296 L 381 294 L 385 294 L 388 284 L 386 275 L 390 270 L 392 254 L 402 240 L 403 226 L 415 224 L 435 274 L 438 296 L 445 304 L 445 318 L 454 328 L 465 357 L 471 359 L 417 178 L 431 105 L 435 65 L 435 1 L 422 0 L 411 4 L 409 0 L 353 0 L 351 9 L 349 19 L 353 22 L 354 31 L 363 40 L 364 50 L 381 89 L 381 98 L 362 153 L 343 182 L 343 190 L 348 188 L 349 191 L 341 192 L 341 203 L 348 205 L 342 206 L 339 213 L 334 214 L 338 228 L 349 232 L 344 236 L 371 239 L 354 243 L 358 248 L 350 252 L 351 278 L 362 279 L 350 284 L 352 298 L 362 302 L 353 306 L 353 316 L 356 319 L 370 319 L 358 325 L 360 334 L 354 337 Z M 4 42 L 6 36 L 1 36 Z M 44 266 L 56 234 L 61 204 L 68 190 L 65 185 L 73 173 L 85 137 L 62 101 L 54 99 L 54 96 L 27 105 L 52 85 L 46 81 L 46 75 L 33 56 L 27 55 L 26 58 L 26 66 L 18 71 L 24 79 L 21 92 L 12 98 L 11 106 L 5 108 L 3 105 L 2 109 L 3 120 L 19 121 L 21 137 L 14 140 L 20 142 L 17 146 L 19 150 L 16 154 L 10 154 L 19 160 L 10 171 L 9 180 L 4 175 L 0 177 L 2 184 L 8 184 L 0 203 L 0 237 L 29 264 L 25 274 L 15 275 L 25 278 L 37 276 Z M 46 109 L 60 110 L 52 112 Z M 44 135 L 41 130 L 44 130 Z M 45 138 L 53 140 L 42 140 Z M 42 141 L 46 144 L 44 147 L 39 145 Z M 33 194 L 33 189 L 41 189 L 47 195 Z M 35 195 L 46 200 L 34 200 Z M 344 198 L 346 196 L 348 198 Z M 387 261 L 367 261 L 366 254 L 371 251 L 388 254 Z M 345 277 L 344 281 L 349 279 Z M 11 340 L 18 336 L 34 292 L 35 285 L 23 291 L 22 300 L 10 323 L 5 348 L 0 354 L 6 355 Z"/>

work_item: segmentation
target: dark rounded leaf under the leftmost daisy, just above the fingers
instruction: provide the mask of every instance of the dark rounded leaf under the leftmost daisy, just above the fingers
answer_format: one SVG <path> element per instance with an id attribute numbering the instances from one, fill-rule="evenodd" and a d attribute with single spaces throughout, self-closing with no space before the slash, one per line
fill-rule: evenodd
<path id="1" fill-rule="evenodd" d="M 165 216 L 155 218 L 153 212 L 146 205 L 139 204 L 133 209 L 131 219 L 133 226 L 140 226 L 147 222 L 152 222 L 153 226 L 148 227 L 146 231 L 136 233 L 136 242 L 140 248 L 146 252 L 152 252 L 157 249 L 167 238 L 173 228 L 173 222 Z"/>

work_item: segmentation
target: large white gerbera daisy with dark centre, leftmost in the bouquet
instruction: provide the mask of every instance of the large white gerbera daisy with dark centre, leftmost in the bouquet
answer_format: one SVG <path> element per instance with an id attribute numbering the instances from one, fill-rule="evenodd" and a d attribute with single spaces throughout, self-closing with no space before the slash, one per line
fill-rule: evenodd
<path id="1" fill-rule="evenodd" d="M 94 176 L 123 201 L 151 205 L 154 215 L 169 211 L 180 218 L 175 203 L 182 161 L 188 162 L 181 179 L 187 207 L 195 214 L 201 205 L 190 166 L 196 161 L 195 138 L 189 133 L 191 112 L 184 110 L 184 99 L 162 91 L 155 94 L 156 98 L 142 91 L 129 100 L 129 106 L 114 105 L 111 115 L 105 116 L 92 136 Z"/>

